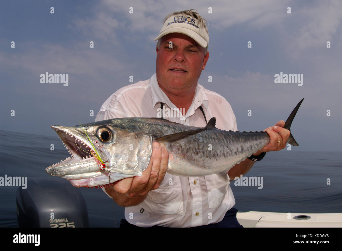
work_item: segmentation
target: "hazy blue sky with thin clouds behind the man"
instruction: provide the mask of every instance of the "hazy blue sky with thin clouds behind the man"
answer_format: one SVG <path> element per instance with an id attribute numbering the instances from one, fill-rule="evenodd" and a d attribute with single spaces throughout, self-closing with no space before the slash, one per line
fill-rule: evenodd
<path id="1" fill-rule="evenodd" d="M 300 147 L 292 150 L 342 151 L 342 2 L 332 0 L 3 2 L 0 129 L 55 135 L 52 124 L 94 121 L 112 93 L 132 84 L 130 75 L 135 83 L 155 73 L 162 20 L 185 9 L 209 22 L 199 83 L 228 100 L 239 130 L 286 120 L 305 98 L 291 127 Z M 45 72 L 69 74 L 68 86 L 41 84 Z M 303 74 L 303 85 L 275 84 L 280 72 Z"/>

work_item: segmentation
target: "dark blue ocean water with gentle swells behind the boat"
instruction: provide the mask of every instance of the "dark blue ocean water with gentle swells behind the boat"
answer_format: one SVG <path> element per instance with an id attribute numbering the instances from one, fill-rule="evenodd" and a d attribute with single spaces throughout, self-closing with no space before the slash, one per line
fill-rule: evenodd
<path id="1" fill-rule="evenodd" d="M 11 177 L 50 177 L 45 168 L 69 156 L 57 136 L 0 130 L 0 142 L 2 177 L 5 174 Z M 50 150 L 51 144 L 54 144 L 54 151 Z M 262 177 L 262 189 L 235 186 L 236 182 L 231 181 L 236 200 L 234 208 L 241 212 L 341 213 L 341 157 L 342 152 L 305 152 L 296 151 L 295 147 L 291 151 L 269 152 L 245 175 L 259 177 L 259 180 Z M 0 186 L 0 227 L 17 227 L 17 189 Z M 124 218 L 124 208 L 102 189 L 75 189 L 80 189 L 87 202 L 91 227 L 119 226 L 120 219 Z"/>

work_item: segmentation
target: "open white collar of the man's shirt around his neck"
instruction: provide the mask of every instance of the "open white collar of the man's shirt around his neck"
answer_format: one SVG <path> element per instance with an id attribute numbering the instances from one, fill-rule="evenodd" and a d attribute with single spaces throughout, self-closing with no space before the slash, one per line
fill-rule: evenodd
<path id="1" fill-rule="evenodd" d="M 170 108 L 176 108 L 176 106 L 170 101 L 169 97 L 165 94 L 165 92 L 163 92 L 163 90 L 160 89 L 157 81 L 157 73 L 153 74 L 153 76 L 151 77 L 150 86 L 152 91 L 152 105 L 154 108 L 156 108 L 156 105 L 158 106 L 157 108 L 159 108 L 160 102 L 166 103 Z M 204 87 L 197 83 L 195 97 L 189 109 L 195 106 L 196 110 L 200 105 L 202 105 L 202 108 L 207 109 L 208 103 L 209 101 L 205 93 Z"/>

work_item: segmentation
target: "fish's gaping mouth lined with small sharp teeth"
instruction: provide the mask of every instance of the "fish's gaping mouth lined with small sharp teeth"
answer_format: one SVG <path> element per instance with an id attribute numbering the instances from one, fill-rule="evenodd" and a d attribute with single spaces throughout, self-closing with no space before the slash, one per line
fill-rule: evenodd
<path id="1" fill-rule="evenodd" d="M 48 174 L 68 179 L 80 179 L 93 177 L 95 175 L 94 172 L 98 175 L 98 171 L 105 170 L 106 166 L 103 161 L 107 161 L 108 158 L 101 158 L 106 155 L 101 154 L 100 148 L 97 147 L 97 150 L 95 149 L 96 143 L 94 146 L 88 138 L 73 127 L 57 125 L 52 125 L 51 127 L 56 131 L 71 157 L 69 156 L 65 160 L 47 167 L 45 171 Z M 75 177 L 77 174 L 83 175 Z M 67 177 L 68 175 L 70 177 Z"/>

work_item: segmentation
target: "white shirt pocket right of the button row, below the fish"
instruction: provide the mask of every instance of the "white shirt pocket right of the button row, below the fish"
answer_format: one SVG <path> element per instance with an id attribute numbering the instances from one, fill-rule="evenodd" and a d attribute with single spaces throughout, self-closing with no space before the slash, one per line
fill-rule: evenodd
<path id="1" fill-rule="evenodd" d="M 218 175 L 204 176 L 206 180 L 209 208 L 216 208 L 222 204 L 228 191 L 229 181 L 221 179 Z"/>

